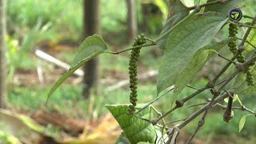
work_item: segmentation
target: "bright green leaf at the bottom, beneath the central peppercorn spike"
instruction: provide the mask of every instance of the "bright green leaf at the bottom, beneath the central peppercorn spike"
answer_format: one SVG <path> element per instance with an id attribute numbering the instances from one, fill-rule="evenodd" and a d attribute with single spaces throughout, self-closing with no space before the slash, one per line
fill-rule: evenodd
<path id="1" fill-rule="evenodd" d="M 140 119 L 152 120 L 154 118 L 151 106 L 137 114 L 139 118 L 127 114 L 128 105 L 106 105 L 106 108 L 110 110 L 131 143 L 154 143 L 157 138 L 154 126 L 150 122 Z"/>

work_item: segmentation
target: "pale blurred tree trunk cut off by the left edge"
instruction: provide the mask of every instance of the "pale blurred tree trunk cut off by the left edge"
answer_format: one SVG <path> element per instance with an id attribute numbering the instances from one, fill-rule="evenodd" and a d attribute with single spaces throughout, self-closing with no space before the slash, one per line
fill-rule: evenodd
<path id="1" fill-rule="evenodd" d="M 6 1 L 0 0 L 0 108 L 6 107 Z"/>

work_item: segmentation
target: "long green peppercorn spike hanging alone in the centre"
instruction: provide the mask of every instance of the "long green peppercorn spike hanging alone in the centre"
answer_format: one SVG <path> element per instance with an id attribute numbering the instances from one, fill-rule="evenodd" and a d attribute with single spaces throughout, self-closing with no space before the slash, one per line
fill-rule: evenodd
<path id="1" fill-rule="evenodd" d="M 146 39 L 144 34 L 138 35 L 133 43 L 133 46 L 141 46 L 146 43 Z M 140 48 L 131 50 L 130 62 L 129 62 L 129 74 L 130 74 L 130 103 L 132 105 L 129 106 L 128 112 L 129 114 L 134 114 L 135 106 L 137 105 L 137 67 L 138 67 L 138 57 L 140 53 Z"/>

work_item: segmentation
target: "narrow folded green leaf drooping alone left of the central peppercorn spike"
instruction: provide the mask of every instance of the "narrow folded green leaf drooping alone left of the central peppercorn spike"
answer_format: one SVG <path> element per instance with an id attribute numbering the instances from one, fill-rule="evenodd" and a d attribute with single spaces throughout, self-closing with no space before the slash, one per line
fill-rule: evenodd
<path id="1" fill-rule="evenodd" d="M 69 78 L 75 70 L 78 70 L 78 68 L 81 67 L 84 63 L 88 62 L 98 54 L 102 54 L 107 49 L 108 47 L 106 46 L 106 42 L 104 42 L 103 39 L 97 34 L 87 37 L 78 47 L 78 54 L 75 56 L 70 69 L 65 74 L 63 74 L 62 77 L 59 78 L 51 88 L 47 100 L 50 98 L 50 95 L 53 94 L 54 91 L 58 88 L 58 86 L 60 86 L 62 82 L 66 80 L 66 78 Z"/>

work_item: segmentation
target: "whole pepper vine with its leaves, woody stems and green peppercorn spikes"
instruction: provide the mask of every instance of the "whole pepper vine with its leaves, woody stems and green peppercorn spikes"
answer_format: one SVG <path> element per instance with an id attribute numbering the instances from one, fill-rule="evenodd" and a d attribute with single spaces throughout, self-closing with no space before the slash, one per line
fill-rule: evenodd
<path id="1" fill-rule="evenodd" d="M 179 0 L 170 0 L 170 14 L 160 36 L 152 40 L 146 38 L 144 34 L 140 34 L 135 38 L 133 46 L 125 50 L 116 52 L 108 50 L 106 42 L 97 34 L 86 38 L 78 47 L 78 54 L 74 58 L 70 70 L 54 84 L 47 100 L 66 78 L 84 63 L 90 61 L 91 58 L 102 53 L 120 54 L 131 50 L 130 62 L 127 66 L 130 74 L 131 104 L 106 106 L 123 130 L 117 143 L 174 143 L 179 131 L 202 114 L 198 127 L 187 140 L 187 143 L 190 143 L 198 130 L 206 123 L 206 116 L 214 106 L 221 106 L 225 110 L 223 114 L 225 122 L 230 122 L 234 117 L 234 109 L 249 113 L 241 118 L 239 131 L 242 130 L 246 118 L 256 115 L 253 110 L 244 106 L 238 98 L 239 94 L 256 93 L 256 86 L 254 85 L 256 76 L 256 16 L 238 14 L 239 10 L 234 8 L 239 6 L 241 2 L 242 0 L 207 0 L 203 2 L 198 0 L 195 1 L 195 6 L 186 7 Z M 234 10 L 234 15 L 232 15 L 232 10 Z M 228 18 L 228 16 L 230 17 Z M 250 20 L 250 22 L 233 21 L 242 17 Z M 234 19 L 232 20 L 232 18 Z M 246 30 L 244 34 L 241 28 Z M 220 30 L 228 31 L 229 37 L 216 38 L 215 35 Z M 242 38 L 239 38 L 238 35 L 242 35 Z M 147 104 L 138 104 L 137 62 L 140 51 L 146 46 L 157 46 L 164 51 L 159 64 L 156 84 L 158 98 Z M 225 47 L 229 47 L 230 58 L 226 58 L 219 52 Z M 222 67 L 222 70 L 202 88 L 188 86 L 191 79 L 214 55 L 226 60 L 226 65 Z M 223 77 L 223 74 L 226 76 Z M 179 98 L 179 94 L 186 86 L 196 91 L 185 98 Z M 166 90 L 167 92 L 164 93 Z M 166 115 L 178 110 L 186 105 L 186 102 L 196 98 L 198 94 L 206 90 L 210 91 L 212 98 L 208 98 L 208 101 L 203 103 L 199 110 L 178 121 L 179 123 L 173 127 L 166 126 L 164 121 Z M 172 92 L 171 97 L 173 99 L 171 104 L 174 106 L 166 113 L 160 114 L 152 104 L 170 92 Z M 227 101 L 225 100 L 226 105 L 221 104 L 224 99 L 227 99 Z M 235 99 L 238 99 L 240 107 L 233 106 Z M 166 105 L 170 105 L 170 102 Z"/>

